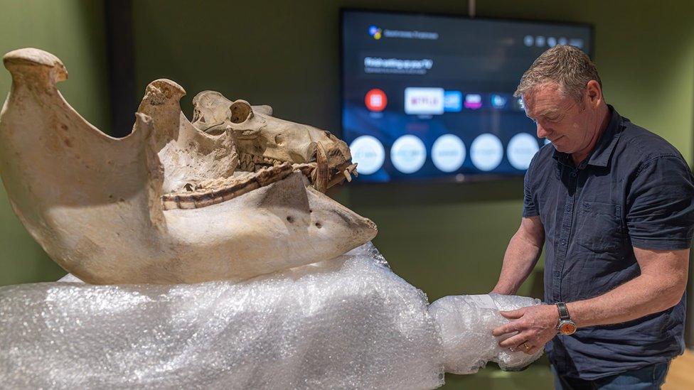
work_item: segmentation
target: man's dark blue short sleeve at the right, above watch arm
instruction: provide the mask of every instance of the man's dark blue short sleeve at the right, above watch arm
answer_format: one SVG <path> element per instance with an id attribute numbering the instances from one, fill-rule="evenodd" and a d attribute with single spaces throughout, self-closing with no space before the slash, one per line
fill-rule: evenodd
<path id="1" fill-rule="evenodd" d="M 694 180 L 680 156 L 642 164 L 627 195 L 626 227 L 634 247 L 690 247 L 694 233 Z"/>

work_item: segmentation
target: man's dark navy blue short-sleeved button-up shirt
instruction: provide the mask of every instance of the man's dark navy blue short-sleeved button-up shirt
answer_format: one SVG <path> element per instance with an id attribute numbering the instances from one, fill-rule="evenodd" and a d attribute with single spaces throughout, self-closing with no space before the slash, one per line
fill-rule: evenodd
<path id="1" fill-rule="evenodd" d="M 609 107 L 594 151 L 578 166 L 551 144 L 525 175 L 523 217 L 545 229 L 545 302 L 599 296 L 639 276 L 633 247 L 687 249 L 694 180 L 677 149 Z M 545 348 L 570 377 L 597 379 L 666 362 L 684 349 L 685 296 L 673 308 L 583 327 Z"/>

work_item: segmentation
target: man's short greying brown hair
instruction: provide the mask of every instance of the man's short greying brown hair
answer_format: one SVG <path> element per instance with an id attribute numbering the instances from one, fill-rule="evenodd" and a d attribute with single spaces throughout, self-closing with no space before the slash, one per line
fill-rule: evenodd
<path id="1" fill-rule="evenodd" d="M 590 80 L 597 81 L 602 88 L 597 68 L 588 55 L 574 46 L 557 45 L 542 53 L 523 73 L 513 96 L 521 97 L 544 82 L 556 82 L 564 96 L 580 102 Z"/>

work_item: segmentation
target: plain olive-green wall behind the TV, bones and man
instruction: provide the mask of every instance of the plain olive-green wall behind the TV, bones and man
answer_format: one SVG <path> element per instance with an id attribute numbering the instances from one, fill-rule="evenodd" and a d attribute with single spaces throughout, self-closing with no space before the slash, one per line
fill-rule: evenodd
<path id="1" fill-rule="evenodd" d="M 168 77 L 182 101 L 218 90 L 230 99 L 271 104 L 277 117 L 338 131 L 341 6 L 457 13 L 465 1 L 134 1 L 138 97 Z M 375 6 L 378 4 L 378 6 Z M 0 51 L 25 45 L 60 57 L 71 78 L 70 104 L 104 129 L 107 122 L 102 1 L 0 0 Z M 478 0 L 479 16 L 593 23 L 594 60 L 608 102 L 671 141 L 693 161 L 694 6 L 690 1 Z M 0 91 L 9 74 L 0 71 Z M 349 185 L 333 194 L 379 226 L 377 247 L 393 270 L 430 300 L 493 287 L 503 251 L 518 227 L 521 180 L 464 185 Z M 0 285 L 53 280 L 49 261 L 0 198 Z M 540 270 L 521 293 L 541 292 Z M 540 276 L 540 277 L 538 277 Z M 546 369 L 449 376 L 449 386 L 490 389 L 549 386 Z"/>

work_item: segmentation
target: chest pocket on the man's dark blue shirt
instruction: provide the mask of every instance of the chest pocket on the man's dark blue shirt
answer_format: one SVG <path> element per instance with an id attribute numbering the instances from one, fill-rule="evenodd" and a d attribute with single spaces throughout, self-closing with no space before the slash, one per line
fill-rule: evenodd
<path id="1" fill-rule="evenodd" d="M 621 206 L 581 202 L 575 230 L 576 243 L 597 254 L 619 254 L 624 247 Z"/>

